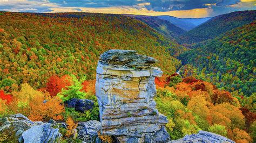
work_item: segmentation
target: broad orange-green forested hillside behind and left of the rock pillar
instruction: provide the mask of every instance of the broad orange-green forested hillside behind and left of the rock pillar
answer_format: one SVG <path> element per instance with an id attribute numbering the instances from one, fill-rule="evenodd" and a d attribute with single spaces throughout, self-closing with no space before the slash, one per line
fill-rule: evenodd
<path id="1" fill-rule="evenodd" d="M 101 13 L 15 13 L 0 15 L 0 89 L 22 83 L 38 89 L 52 75 L 95 78 L 99 55 L 108 49 L 134 49 L 153 56 L 166 73 L 184 51 L 136 19 Z"/>

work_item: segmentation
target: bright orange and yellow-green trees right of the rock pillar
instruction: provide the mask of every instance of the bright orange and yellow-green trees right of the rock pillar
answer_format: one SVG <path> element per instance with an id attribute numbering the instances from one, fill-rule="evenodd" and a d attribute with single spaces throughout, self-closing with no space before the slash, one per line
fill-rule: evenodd
<path id="1" fill-rule="evenodd" d="M 156 84 L 157 108 L 169 119 L 166 127 L 172 139 L 204 130 L 236 142 L 255 140 L 252 98 L 245 103 L 209 82 L 194 77 L 182 79 L 178 74 L 157 78 Z"/>

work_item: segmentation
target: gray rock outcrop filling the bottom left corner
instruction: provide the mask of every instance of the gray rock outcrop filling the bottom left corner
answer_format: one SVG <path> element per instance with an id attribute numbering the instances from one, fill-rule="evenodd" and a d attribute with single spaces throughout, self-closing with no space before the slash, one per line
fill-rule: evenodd
<path id="1" fill-rule="evenodd" d="M 54 120 L 50 122 L 56 123 Z M 4 142 L 59 142 L 62 134 L 52 125 L 42 121 L 33 122 L 18 113 L 0 118 L 0 134 L 6 137 Z"/>

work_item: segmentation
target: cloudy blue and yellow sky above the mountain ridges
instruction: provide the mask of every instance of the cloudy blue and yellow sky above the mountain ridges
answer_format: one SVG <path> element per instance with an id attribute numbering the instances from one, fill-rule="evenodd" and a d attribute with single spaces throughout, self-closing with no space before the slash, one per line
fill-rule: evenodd
<path id="1" fill-rule="evenodd" d="M 99 12 L 203 18 L 242 10 L 256 10 L 256 0 L 0 0 L 0 11 L 12 12 Z"/>

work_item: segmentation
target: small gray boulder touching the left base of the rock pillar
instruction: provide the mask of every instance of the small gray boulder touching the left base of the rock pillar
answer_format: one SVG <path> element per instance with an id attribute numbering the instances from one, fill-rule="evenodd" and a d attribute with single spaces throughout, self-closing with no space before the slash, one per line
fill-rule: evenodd
<path id="1" fill-rule="evenodd" d="M 95 142 L 102 125 L 97 120 L 79 122 L 77 126 L 78 139 L 85 142 Z"/>

